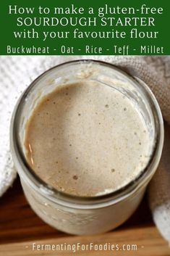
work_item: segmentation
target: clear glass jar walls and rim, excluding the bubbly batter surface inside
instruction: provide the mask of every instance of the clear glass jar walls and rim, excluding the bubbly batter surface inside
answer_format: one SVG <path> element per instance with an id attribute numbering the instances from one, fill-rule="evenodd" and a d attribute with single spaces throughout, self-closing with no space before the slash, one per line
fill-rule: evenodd
<path id="1" fill-rule="evenodd" d="M 37 102 L 59 84 L 77 80 L 98 80 L 106 86 L 116 86 L 137 104 L 153 141 L 148 165 L 137 177 L 121 189 L 96 197 L 77 197 L 57 191 L 31 170 L 25 157 L 25 124 Z M 14 109 L 10 138 L 14 166 L 25 197 L 37 215 L 69 234 L 98 234 L 124 223 L 140 204 L 161 157 L 163 119 L 155 96 L 142 80 L 106 62 L 76 60 L 51 68 L 31 83 Z"/>

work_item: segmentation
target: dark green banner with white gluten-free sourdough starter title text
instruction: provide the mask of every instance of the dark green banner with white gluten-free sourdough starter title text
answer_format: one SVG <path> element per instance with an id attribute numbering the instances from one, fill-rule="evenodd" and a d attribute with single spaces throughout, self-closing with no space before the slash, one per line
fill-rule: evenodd
<path id="1" fill-rule="evenodd" d="M 1 55 L 169 55 L 170 2 L 1 1 Z"/>

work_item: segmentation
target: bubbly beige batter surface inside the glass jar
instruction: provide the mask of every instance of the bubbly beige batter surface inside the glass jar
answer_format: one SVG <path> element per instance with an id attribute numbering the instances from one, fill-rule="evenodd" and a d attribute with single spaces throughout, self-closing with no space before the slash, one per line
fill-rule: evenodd
<path id="1" fill-rule="evenodd" d="M 115 88 L 92 81 L 59 86 L 43 97 L 27 121 L 25 148 L 43 181 L 85 197 L 121 188 L 150 157 L 137 107 Z"/>

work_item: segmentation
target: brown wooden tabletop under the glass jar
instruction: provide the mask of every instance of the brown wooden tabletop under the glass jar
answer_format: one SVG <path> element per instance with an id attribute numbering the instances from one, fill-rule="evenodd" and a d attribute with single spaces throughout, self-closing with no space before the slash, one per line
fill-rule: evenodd
<path id="1" fill-rule="evenodd" d="M 137 251 L 44 251 L 32 244 L 137 244 Z M 71 236 L 51 228 L 38 218 L 23 195 L 20 180 L 0 199 L 0 256 L 29 255 L 140 255 L 166 256 L 170 249 L 158 233 L 146 198 L 134 215 L 119 228 L 96 236 Z"/>

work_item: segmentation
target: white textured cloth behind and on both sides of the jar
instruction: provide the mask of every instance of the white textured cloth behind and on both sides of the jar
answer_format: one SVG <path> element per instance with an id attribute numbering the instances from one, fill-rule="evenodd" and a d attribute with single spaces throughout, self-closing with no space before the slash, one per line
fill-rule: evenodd
<path id="1" fill-rule="evenodd" d="M 9 124 L 20 94 L 41 73 L 61 62 L 101 59 L 124 67 L 150 86 L 166 121 L 165 144 L 158 171 L 148 186 L 153 220 L 170 241 L 170 56 L 1 56 L 0 57 L 0 196 L 16 177 L 9 151 Z"/>

